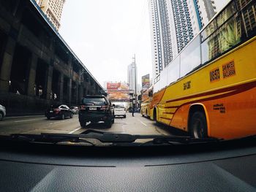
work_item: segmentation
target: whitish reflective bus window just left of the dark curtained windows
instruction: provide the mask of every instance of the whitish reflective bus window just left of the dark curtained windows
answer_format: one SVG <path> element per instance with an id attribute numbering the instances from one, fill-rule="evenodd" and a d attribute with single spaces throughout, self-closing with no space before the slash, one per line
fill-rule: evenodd
<path id="1" fill-rule="evenodd" d="M 181 53 L 181 77 L 200 64 L 200 36 L 197 36 Z"/>

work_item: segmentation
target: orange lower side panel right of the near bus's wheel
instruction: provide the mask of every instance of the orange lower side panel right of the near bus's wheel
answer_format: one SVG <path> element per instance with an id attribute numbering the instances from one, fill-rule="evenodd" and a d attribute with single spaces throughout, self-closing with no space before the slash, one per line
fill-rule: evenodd
<path id="1" fill-rule="evenodd" d="M 203 104 L 208 111 L 209 137 L 233 139 L 256 133 L 256 88 Z"/>

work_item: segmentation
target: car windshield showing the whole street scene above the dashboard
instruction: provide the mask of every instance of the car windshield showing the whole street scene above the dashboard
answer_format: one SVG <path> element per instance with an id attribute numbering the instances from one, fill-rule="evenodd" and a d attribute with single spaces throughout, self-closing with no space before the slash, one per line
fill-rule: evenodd
<path id="1" fill-rule="evenodd" d="M 123 134 L 104 142 L 163 143 L 256 134 L 256 0 L 0 7 L 0 135 L 102 134 L 93 130 Z"/>

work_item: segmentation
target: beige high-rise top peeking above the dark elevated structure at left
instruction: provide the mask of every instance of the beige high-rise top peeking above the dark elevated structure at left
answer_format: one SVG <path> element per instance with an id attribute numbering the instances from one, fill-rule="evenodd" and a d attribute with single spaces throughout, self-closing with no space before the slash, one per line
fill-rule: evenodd
<path id="1" fill-rule="evenodd" d="M 36 0 L 42 12 L 48 17 L 53 26 L 59 30 L 61 26 L 61 13 L 65 0 Z"/>

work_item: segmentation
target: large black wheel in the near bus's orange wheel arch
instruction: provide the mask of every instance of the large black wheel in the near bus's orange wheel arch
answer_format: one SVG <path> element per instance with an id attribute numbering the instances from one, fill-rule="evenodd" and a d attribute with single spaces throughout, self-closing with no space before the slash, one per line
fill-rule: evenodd
<path id="1" fill-rule="evenodd" d="M 204 112 L 194 112 L 189 123 L 190 134 L 194 138 L 207 137 L 207 123 Z"/>

